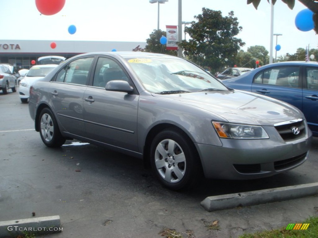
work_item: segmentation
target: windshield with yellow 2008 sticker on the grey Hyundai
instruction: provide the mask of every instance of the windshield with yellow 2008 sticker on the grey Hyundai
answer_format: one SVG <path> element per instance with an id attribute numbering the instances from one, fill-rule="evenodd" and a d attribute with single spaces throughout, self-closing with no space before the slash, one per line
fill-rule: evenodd
<path id="1" fill-rule="evenodd" d="M 228 90 L 206 71 L 181 58 L 153 57 L 126 60 L 142 85 L 152 93 Z"/>

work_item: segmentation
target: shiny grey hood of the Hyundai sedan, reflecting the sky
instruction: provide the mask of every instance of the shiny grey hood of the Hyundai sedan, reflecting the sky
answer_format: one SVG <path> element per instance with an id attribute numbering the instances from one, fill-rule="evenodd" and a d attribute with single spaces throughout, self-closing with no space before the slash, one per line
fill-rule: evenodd
<path id="1" fill-rule="evenodd" d="M 238 90 L 153 96 L 189 104 L 234 123 L 273 126 L 277 122 L 304 118 L 300 110 L 288 103 Z"/>

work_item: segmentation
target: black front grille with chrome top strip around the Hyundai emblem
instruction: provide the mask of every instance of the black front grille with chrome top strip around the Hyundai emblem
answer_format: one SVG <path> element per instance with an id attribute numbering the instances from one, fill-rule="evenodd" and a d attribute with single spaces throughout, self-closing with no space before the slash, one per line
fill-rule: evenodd
<path id="1" fill-rule="evenodd" d="M 299 121 L 296 122 L 280 122 L 277 123 L 275 126 L 276 130 L 280 134 L 281 138 L 283 138 L 284 141 L 292 141 L 296 140 L 298 138 L 301 138 L 305 135 L 305 122 L 302 119 L 298 119 Z M 299 134 L 294 134 L 293 129 L 298 128 Z"/>

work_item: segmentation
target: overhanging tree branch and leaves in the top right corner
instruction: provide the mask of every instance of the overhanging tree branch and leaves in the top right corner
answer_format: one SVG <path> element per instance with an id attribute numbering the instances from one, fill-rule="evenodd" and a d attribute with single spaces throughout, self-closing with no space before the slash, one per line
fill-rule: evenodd
<path id="1" fill-rule="evenodd" d="M 273 5 L 276 3 L 277 0 L 271 0 Z M 294 8 L 295 0 L 281 0 L 283 3 L 286 3 L 290 9 Z M 318 34 L 318 2 L 317 0 L 298 0 L 302 4 L 304 4 L 308 9 L 310 9 L 313 13 L 313 20 L 315 24 L 315 32 Z M 269 3 L 269 0 L 267 0 Z M 253 3 L 254 7 L 257 9 L 260 0 L 247 0 L 247 4 Z"/>

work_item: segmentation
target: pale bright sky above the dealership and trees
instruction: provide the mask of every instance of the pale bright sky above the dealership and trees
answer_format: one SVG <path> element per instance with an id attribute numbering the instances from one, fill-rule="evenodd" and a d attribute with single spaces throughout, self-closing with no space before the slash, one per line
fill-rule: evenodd
<path id="1" fill-rule="evenodd" d="M 182 21 L 195 21 L 203 7 L 220 10 L 224 17 L 234 12 L 243 27 L 237 36 L 245 42 L 243 50 L 254 45 L 270 50 L 271 6 L 266 0 L 261 0 L 258 10 L 246 0 L 182 0 Z M 295 26 L 297 13 L 305 8 L 298 0 L 293 10 L 281 0 L 275 3 L 273 33 L 282 34 L 277 37 L 281 46 L 277 56 L 294 54 L 308 45 L 317 49 L 315 31 L 304 32 Z M 159 9 L 161 30 L 178 25 L 178 0 L 160 4 Z M 157 13 L 158 4 L 149 0 L 66 0 L 62 10 L 51 16 L 41 15 L 35 0 L 0 0 L 0 39 L 145 42 L 157 29 Z M 70 25 L 76 26 L 75 34 L 68 32 Z M 274 57 L 275 45 L 276 36 Z"/>

